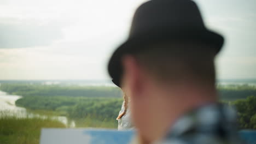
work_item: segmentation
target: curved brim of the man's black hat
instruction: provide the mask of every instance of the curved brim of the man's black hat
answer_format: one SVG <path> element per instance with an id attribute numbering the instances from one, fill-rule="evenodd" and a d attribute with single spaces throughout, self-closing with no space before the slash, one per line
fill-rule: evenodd
<path id="1" fill-rule="evenodd" d="M 123 74 L 123 68 L 121 64 L 121 58 L 125 54 L 136 53 L 142 51 L 138 47 L 145 47 L 155 43 L 172 43 L 173 40 L 199 40 L 202 43 L 212 45 L 216 50 L 216 54 L 223 46 L 224 38 L 215 32 L 203 29 L 201 31 L 177 31 L 177 32 L 148 32 L 136 37 L 129 38 L 125 43 L 120 45 L 116 49 L 108 63 L 108 73 L 117 81 L 120 85 L 121 75 Z"/>

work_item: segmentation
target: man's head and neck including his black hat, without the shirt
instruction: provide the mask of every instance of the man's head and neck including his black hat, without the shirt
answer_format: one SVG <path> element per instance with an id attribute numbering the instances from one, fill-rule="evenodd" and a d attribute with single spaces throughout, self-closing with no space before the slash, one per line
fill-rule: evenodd
<path id="1" fill-rule="evenodd" d="M 136 10 L 108 72 L 131 98 L 139 134 L 157 139 L 185 111 L 216 100 L 214 56 L 223 42 L 194 1 L 152 0 Z"/>

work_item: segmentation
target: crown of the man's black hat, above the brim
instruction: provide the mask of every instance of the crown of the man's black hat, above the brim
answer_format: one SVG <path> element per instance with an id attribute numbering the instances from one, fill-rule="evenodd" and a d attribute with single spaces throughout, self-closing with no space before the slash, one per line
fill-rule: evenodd
<path id="1" fill-rule="evenodd" d="M 152 0 L 142 4 L 133 16 L 130 37 L 148 31 L 205 29 L 197 5 L 190 0 Z"/>

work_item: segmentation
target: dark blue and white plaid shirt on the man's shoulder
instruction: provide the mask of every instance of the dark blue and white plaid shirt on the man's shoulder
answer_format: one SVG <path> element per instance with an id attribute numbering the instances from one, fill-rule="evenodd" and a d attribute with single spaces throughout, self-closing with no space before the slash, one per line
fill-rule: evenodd
<path id="1" fill-rule="evenodd" d="M 230 106 L 212 104 L 179 118 L 158 144 L 241 143 L 236 129 L 236 111 Z"/>

